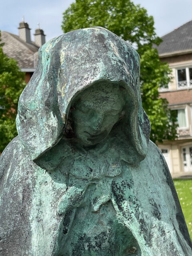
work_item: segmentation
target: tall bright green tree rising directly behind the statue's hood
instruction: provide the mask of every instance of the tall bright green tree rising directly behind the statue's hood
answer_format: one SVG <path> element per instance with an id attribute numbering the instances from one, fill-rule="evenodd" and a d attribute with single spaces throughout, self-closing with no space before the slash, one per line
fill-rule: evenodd
<path id="1" fill-rule="evenodd" d="M 76 0 L 63 13 L 64 33 L 79 28 L 102 26 L 132 44 L 141 57 L 140 83 L 144 110 L 151 121 L 150 139 L 154 142 L 174 140 L 176 118 L 166 99 L 159 98 L 159 87 L 170 81 L 168 64 L 162 63 L 153 48 L 161 39 L 147 10 L 131 0 Z"/>

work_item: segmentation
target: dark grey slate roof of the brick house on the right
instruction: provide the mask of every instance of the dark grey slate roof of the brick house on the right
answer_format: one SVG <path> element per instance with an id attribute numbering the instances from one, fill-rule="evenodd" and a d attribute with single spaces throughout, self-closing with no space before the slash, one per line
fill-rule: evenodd
<path id="1" fill-rule="evenodd" d="M 162 40 L 156 46 L 160 56 L 192 52 L 192 20 L 162 36 Z"/>

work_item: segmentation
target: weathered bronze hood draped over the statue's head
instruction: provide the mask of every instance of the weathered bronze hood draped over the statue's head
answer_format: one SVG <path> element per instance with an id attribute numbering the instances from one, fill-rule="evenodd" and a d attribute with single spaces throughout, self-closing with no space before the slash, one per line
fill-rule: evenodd
<path id="1" fill-rule="evenodd" d="M 44 44 L 36 71 L 20 96 L 16 118 L 19 138 L 32 160 L 60 141 L 72 100 L 99 80 L 121 82 L 134 94 L 131 138 L 143 159 L 150 122 L 142 108 L 139 76 L 136 50 L 105 28 L 71 31 Z"/>

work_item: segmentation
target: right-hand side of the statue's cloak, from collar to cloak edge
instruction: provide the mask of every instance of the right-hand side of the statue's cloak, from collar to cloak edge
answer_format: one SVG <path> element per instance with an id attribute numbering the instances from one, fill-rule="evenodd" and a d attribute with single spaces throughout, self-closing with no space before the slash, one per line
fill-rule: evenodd
<path id="1" fill-rule="evenodd" d="M 120 222 L 134 234 L 142 255 L 192 255 L 170 172 L 152 142 L 146 158 L 138 166 L 128 166 L 112 182 L 112 204 Z"/>

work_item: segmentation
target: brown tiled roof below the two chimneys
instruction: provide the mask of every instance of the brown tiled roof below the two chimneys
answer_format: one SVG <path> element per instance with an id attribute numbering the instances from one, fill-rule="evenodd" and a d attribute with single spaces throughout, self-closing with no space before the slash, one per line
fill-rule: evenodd
<path id="1" fill-rule="evenodd" d="M 5 43 L 3 52 L 9 58 L 14 58 L 18 62 L 21 69 L 35 69 L 36 56 L 39 49 L 34 42 L 26 43 L 14 34 L 6 31 L 1 31 L 1 42 Z M 26 71 L 26 70 L 25 70 Z"/>

